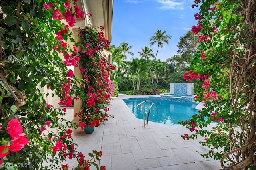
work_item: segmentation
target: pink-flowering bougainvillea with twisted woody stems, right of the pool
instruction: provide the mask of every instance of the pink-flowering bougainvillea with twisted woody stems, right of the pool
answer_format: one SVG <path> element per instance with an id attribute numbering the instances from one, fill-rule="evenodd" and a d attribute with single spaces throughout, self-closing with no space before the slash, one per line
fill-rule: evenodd
<path id="1" fill-rule="evenodd" d="M 192 32 L 200 39 L 187 81 L 200 79 L 196 97 L 200 113 L 181 122 L 190 129 L 184 139 L 202 136 L 210 148 L 205 157 L 220 160 L 226 170 L 256 166 L 256 1 L 195 0 L 198 24 Z M 211 130 L 206 126 L 216 122 Z"/>

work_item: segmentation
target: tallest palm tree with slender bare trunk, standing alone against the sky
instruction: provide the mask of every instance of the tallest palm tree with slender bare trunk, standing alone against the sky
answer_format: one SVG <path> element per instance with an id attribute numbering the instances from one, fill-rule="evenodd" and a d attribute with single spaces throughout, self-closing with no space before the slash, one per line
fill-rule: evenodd
<path id="1" fill-rule="evenodd" d="M 152 47 L 152 45 L 154 45 L 156 42 L 158 43 L 158 47 L 157 47 L 157 51 L 156 51 L 156 56 L 157 56 L 157 53 L 158 53 L 158 49 L 159 47 L 163 47 L 163 42 L 165 42 L 166 44 L 169 44 L 169 41 L 168 39 L 171 39 L 172 36 L 170 35 L 165 35 L 166 34 L 166 30 L 164 30 L 162 32 L 162 30 L 157 30 L 155 32 L 155 36 L 151 36 L 150 37 L 150 47 Z M 156 59 L 156 56 L 155 56 L 155 59 Z"/>

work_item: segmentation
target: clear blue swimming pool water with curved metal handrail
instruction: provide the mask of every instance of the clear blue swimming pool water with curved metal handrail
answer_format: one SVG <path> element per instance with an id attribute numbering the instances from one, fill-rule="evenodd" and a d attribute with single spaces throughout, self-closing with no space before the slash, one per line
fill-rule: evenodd
<path id="1" fill-rule="evenodd" d="M 166 101 L 161 99 L 151 98 L 130 98 L 124 99 L 124 103 L 130 108 L 132 113 L 139 119 L 143 119 L 142 107 L 136 107 L 139 103 L 145 100 L 152 100 L 156 103 L 158 113 L 155 105 L 152 106 L 148 121 L 163 123 L 166 125 L 178 125 L 178 121 L 186 121 L 198 111 L 195 109 L 197 104 L 190 102 L 176 102 Z M 145 119 L 147 119 L 148 109 L 152 102 L 143 103 Z"/>

